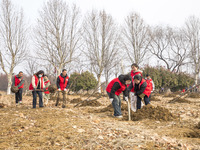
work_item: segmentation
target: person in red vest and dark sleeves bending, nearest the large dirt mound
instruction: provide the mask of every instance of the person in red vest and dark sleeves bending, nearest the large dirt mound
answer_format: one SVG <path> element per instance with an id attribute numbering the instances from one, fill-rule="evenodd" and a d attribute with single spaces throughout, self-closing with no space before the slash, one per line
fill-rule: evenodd
<path id="1" fill-rule="evenodd" d="M 144 99 L 145 105 L 149 104 L 149 96 L 151 94 L 151 88 L 147 84 L 146 80 L 140 75 L 134 76 L 134 82 L 128 87 L 128 91 L 134 88 L 134 94 L 137 96 L 137 109 L 141 108 L 141 100 Z"/>

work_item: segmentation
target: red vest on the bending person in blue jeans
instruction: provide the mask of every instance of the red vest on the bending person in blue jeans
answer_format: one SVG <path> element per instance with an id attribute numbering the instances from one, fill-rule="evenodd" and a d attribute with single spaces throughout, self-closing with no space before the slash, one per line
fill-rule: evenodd
<path id="1" fill-rule="evenodd" d="M 121 86 L 121 88 L 118 89 L 118 90 L 115 92 L 115 95 L 119 96 L 119 94 L 121 94 L 121 93 L 126 89 L 126 86 L 125 86 L 124 84 L 122 84 L 118 78 L 115 78 L 115 79 L 113 79 L 112 81 L 110 81 L 110 83 L 108 84 L 108 86 L 107 86 L 107 88 L 106 88 L 106 91 L 107 91 L 108 93 L 110 93 L 110 92 L 111 92 L 111 89 L 112 89 L 112 87 L 113 87 L 113 85 L 114 85 L 115 82 L 118 82 L 118 83 L 120 84 L 120 86 Z"/>

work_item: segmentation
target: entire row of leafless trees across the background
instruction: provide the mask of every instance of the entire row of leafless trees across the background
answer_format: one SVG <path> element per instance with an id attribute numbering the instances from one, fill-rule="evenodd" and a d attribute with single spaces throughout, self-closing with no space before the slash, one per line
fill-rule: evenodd
<path id="1" fill-rule="evenodd" d="M 25 62 L 24 70 L 29 75 L 40 68 L 56 75 L 63 68 L 89 69 L 100 85 L 102 76 L 108 82 L 110 76 L 124 73 L 124 64 L 145 65 L 147 59 L 160 60 L 173 72 L 191 65 L 198 81 L 197 17 L 189 17 L 182 28 L 172 28 L 149 26 L 133 12 L 119 25 L 104 10 L 82 16 L 76 5 L 49 0 L 39 11 L 37 25 L 30 30 L 23 10 L 18 11 L 11 0 L 1 1 L 0 12 L 0 65 L 8 77 L 8 94 L 14 68 Z M 34 50 L 30 49 L 33 46 Z"/>

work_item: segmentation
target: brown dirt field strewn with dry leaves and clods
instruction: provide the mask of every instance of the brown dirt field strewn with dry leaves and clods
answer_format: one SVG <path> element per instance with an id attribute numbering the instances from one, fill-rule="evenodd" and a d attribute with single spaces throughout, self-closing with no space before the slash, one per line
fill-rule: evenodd
<path id="1" fill-rule="evenodd" d="M 89 106 L 84 102 L 77 107 L 86 97 L 68 98 L 66 108 L 49 101 L 44 108 L 32 109 L 31 96 L 24 96 L 23 105 L 16 107 L 13 95 L 2 95 L 0 149 L 200 149 L 199 98 L 171 104 L 168 102 L 173 97 L 157 96 L 159 100 L 152 101 L 151 106 L 132 112 L 134 121 L 127 121 L 125 102 L 124 118 L 119 120 L 112 117 L 106 97 L 98 99 L 99 103 L 89 101 Z"/>

